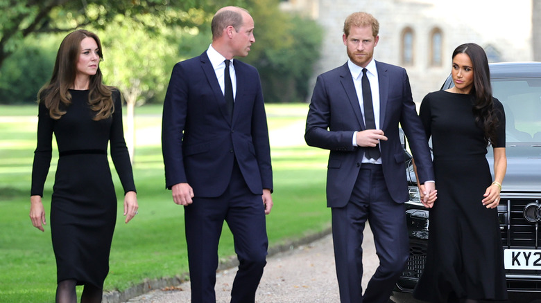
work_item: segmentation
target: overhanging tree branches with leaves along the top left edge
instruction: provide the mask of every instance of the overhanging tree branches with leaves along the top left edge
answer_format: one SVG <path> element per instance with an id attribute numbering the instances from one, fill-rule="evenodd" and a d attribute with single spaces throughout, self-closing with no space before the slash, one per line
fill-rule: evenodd
<path id="1" fill-rule="evenodd" d="M 195 27 L 214 11 L 218 0 L 0 0 L 0 66 L 33 33 L 65 33 L 92 26 L 105 28 L 119 16 L 144 26 L 148 33 L 160 26 Z M 146 16 L 152 16 L 148 22 Z"/>

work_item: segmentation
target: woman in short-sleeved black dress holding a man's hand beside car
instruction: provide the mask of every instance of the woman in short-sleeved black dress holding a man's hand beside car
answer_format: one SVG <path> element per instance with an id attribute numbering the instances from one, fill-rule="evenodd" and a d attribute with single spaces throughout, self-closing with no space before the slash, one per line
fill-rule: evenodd
<path id="1" fill-rule="evenodd" d="M 429 93 L 420 108 L 432 137 L 438 197 L 430 209 L 427 261 L 413 295 L 429 302 L 507 300 L 497 219 L 507 168 L 504 108 L 492 97 L 483 48 L 463 44 L 452 58 L 455 86 Z M 485 157 L 489 144 L 494 181 Z"/>

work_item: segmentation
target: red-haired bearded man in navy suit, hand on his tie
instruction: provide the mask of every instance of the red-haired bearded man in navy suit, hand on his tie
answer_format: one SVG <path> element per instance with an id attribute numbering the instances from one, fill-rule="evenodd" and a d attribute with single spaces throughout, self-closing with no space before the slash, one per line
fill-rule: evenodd
<path id="1" fill-rule="evenodd" d="M 376 62 L 379 23 L 356 12 L 345 20 L 346 64 L 318 76 L 307 117 L 308 145 L 329 149 L 327 206 L 332 208 L 336 275 L 342 303 L 388 302 L 409 257 L 408 200 L 399 123 L 408 137 L 429 205 L 432 161 L 404 68 Z M 427 182 L 431 181 L 431 182 Z M 363 230 L 370 223 L 379 267 L 364 295 Z"/>

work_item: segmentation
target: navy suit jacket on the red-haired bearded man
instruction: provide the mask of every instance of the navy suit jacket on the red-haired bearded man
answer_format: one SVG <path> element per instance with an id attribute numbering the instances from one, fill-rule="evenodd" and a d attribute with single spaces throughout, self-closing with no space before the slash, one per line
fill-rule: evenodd
<path id="1" fill-rule="evenodd" d="M 393 201 L 408 200 L 404 151 L 399 123 L 406 134 L 420 183 L 434 180 L 427 137 L 411 97 L 406 70 L 376 62 L 379 80 L 379 128 L 388 140 L 380 141 L 382 169 Z M 359 174 L 365 148 L 354 147 L 354 131 L 365 130 L 359 99 L 347 63 L 318 76 L 307 117 L 304 138 L 308 145 L 330 149 L 327 169 L 327 206 L 347 204 Z"/>

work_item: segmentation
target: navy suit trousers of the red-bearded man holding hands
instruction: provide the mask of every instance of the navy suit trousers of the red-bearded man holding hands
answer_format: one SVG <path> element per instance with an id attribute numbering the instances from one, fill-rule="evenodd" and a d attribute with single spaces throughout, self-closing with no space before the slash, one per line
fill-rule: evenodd
<path id="1" fill-rule="evenodd" d="M 390 197 L 381 165 L 363 164 L 350 201 L 332 208 L 332 236 L 341 303 L 386 303 L 409 257 L 404 204 Z M 379 267 L 364 295 L 363 230 L 366 221 L 374 235 Z"/>

